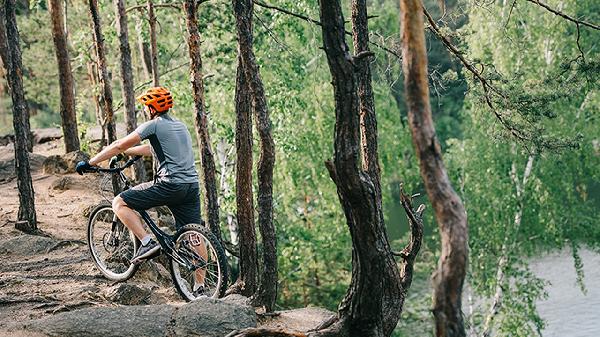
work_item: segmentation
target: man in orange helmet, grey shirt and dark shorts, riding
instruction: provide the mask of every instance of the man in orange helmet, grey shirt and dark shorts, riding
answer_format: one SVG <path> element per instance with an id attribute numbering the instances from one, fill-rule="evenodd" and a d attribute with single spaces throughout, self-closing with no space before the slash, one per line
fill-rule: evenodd
<path id="1" fill-rule="evenodd" d="M 192 138 L 186 125 L 169 115 L 173 98 L 163 87 L 150 88 L 137 97 L 144 105 L 149 121 L 127 136 L 114 141 L 92 159 L 77 164 L 79 174 L 118 154 L 153 156 L 156 172 L 153 182 L 139 184 L 113 199 L 112 208 L 123 224 L 140 240 L 142 245 L 131 260 L 138 264 L 158 255 L 160 245 L 143 227 L 138 213 L 157 206 L 167 206 L 180 228 L 189 223 L 200 224 L 200 196 L 198 172 L 194 165 Z M 138 145 L 143 140 L 150 144 Z M 206 247 L 195 248 L 206 256 Z M 204 271 L 196 271 L 195 291 L 202 291 Z"/>

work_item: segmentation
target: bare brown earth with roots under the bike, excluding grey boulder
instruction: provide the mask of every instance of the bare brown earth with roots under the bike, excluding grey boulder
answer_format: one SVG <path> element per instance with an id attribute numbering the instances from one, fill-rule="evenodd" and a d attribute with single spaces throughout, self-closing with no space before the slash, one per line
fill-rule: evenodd
<path id="1" fill-rule="evenodd" d="M 87 307 L 183 304 L 159 263 L 144 263 L 132 279 L 119 284 L 96 269 L 89 256 L 86 226 L 89 210 L 104 200 L 101 177 L 44 173 L 44 159 L 62 153 L 61 140 L 34 147 L 32 180 L 43 235 L 25 235 L 14 226 L 19 199 L 13 147 L 0 146 L 0 329 Z M 328 312 L 307 311 L 311 317 L 298 314 L 288 317 L 293 321 L 288 323 L 302 329 L 306 324 L 314 326 Z M 277 319 L 259 320 L 259 326 L 281 324 Z"/>

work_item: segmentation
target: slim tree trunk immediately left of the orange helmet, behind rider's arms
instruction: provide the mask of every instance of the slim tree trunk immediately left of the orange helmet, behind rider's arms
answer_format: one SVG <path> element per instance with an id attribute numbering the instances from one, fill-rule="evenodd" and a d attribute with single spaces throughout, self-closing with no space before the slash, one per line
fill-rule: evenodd
<path id="1" fill-rule="evenodd" d="M 131 48 L 129 48 L 129 33 L 127 30 L 127 13 L 123 0 L 114 0 L 117 34 L 119 35 L 119 50 L 121 52 L 121 86 L 123 87 L 123 102 L 125 102 L 125 125 L 127 133 L 135 131 L 137 119 L 135 113 L 135 95 L 133 93 L 133 70 L 131 66 Z M 133 165 L 135 180 L 139 183 L 146 181 L 144 162 L 138 160 Z"/>

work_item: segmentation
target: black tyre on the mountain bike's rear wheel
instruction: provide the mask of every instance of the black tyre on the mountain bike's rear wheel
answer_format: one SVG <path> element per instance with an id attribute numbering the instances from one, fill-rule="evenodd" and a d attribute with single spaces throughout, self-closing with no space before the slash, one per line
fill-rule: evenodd
<path id="1" fill-rule="evenodd" d="M 198 225 L 198 224 L 188 224 L 181 227 L 175 236 L 173 237 L 173 242 L 175 243 L 176 251 L 180 251 L 182 249 L 181 245 L 185 242 L 186 238 L 184 235 L 187 234 L 199 234 L 201 238 L 204 240 L 204 243 L 207 244 L 206 247 L 206 255 L 207 255 L 207 268 L 205 268 L 205 282 L 209 277 L 212 276 L 212 272 L 208 270 L 214 270 L 213 268 L 217 268 L 217 283 L 212 285 L 208 285 L 208 292 L 203 293 L 200 296 L 196 296 L 193 293 L 193 289 L 190 289 L 191 279 L 195 276 L 192 276 L 191 273 L 193 271 L 187 270 L 187 277 L 181 275 L 181 269 L 186 271 L 186 267 L 180 265 L 173 258 L 169 259 L 169 271 L 171 272 L 171 279 L 173 280 L 173 284 L 177 289 L 177 292 L 181 297 L 187 302 L 198 299 L 201 296 L 207 296 L 211 298 L 219 298 L 225 294 L 225 290 L 227 289 L 227 281 L 228 281 L 228 265 L 227 265 L 227 257 L 225 256 L 225 251 L 221 243 L 217 240 L 217 238 L 208 230 L 207 228 Z M 213 281 L 209 281 L 212 283 Z M 193 286 L 192 286 L 193 287 Z"/>

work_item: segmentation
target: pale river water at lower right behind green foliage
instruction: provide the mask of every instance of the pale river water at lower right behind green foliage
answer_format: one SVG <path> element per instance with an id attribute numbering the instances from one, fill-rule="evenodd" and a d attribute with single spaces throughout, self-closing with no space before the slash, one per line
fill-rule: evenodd
<path id="1" fill-rule="evenodd" d="M 573 257 L 569 249 L 536 258 L 533 272 L 549 282 L 548 299 L 537 303 L 546 320 L 544 337 L 600 337 L 600 254 L 580 250 L 585 273 L 583 294 L 576 283 Z"/>

